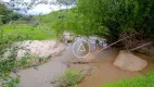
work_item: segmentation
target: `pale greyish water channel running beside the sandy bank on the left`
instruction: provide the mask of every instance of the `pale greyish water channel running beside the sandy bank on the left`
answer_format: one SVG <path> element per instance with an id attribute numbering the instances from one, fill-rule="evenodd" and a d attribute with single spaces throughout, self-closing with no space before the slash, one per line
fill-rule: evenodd
<path id="1" fill-rule="evenodd" d="M 66 47 L 62 54 L 52 58 L 46 64 L 39 65 L 37 70 L 34 67 L 21 70 L 17 73 L 21 76 L 20 87 L 54 87 L 51 82 L 63 75 L 67 70 L 65 62 L 75 58 L 70 47 L 72 45 Z"/>

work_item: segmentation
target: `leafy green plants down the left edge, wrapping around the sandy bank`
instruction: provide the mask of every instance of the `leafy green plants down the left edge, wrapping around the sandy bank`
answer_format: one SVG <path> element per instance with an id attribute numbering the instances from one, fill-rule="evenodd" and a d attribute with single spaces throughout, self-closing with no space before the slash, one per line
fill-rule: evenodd
<path id="1" fill-rule="evenodd" d="M 16 85 L 20 83 L 18 79 L 10 77 L 11 72 L 40 64 L 39 59 L 31 55 L 25 55 L 22 59 L 16 59 L 15 52 L 18 48 L 12 47 L 12 42 L 27 39 L 22 36 L 23 35 L 4 35 L 3 30 L 0 32 L 0 80 L 7 80 L 7 83 L 3 83 L 4 87 L 17 87 Z M 10 53 L 8 58 L 4 55 L 8 51 L 7 48 L 12 48 L 12 50 L 9 51 Z"/>

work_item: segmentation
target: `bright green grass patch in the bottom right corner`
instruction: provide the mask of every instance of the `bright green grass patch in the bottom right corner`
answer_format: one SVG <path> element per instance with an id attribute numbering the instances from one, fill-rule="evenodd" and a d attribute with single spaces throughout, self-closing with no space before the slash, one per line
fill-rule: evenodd
<path id="1" fill-rule="evenodd" d="M 154 71 L 151 71 L 146 76 L 123 79 L 101 87 L 154 87 Z"/>

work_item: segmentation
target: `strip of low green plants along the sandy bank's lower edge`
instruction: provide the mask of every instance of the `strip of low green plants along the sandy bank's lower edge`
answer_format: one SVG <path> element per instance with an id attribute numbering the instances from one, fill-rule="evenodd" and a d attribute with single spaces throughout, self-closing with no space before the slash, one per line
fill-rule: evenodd
<path id="1" fill-rule="evenodd" d="M 3 59 L 0 61 L 0 78 L 5 78 L 11 72 L 15 72 L 20 69 L 27 69 L 31 66 L 38 66 L 46 62 L 43 58 L 35 58 L 33 55 L 25 55 L 21 59 Z"/>

